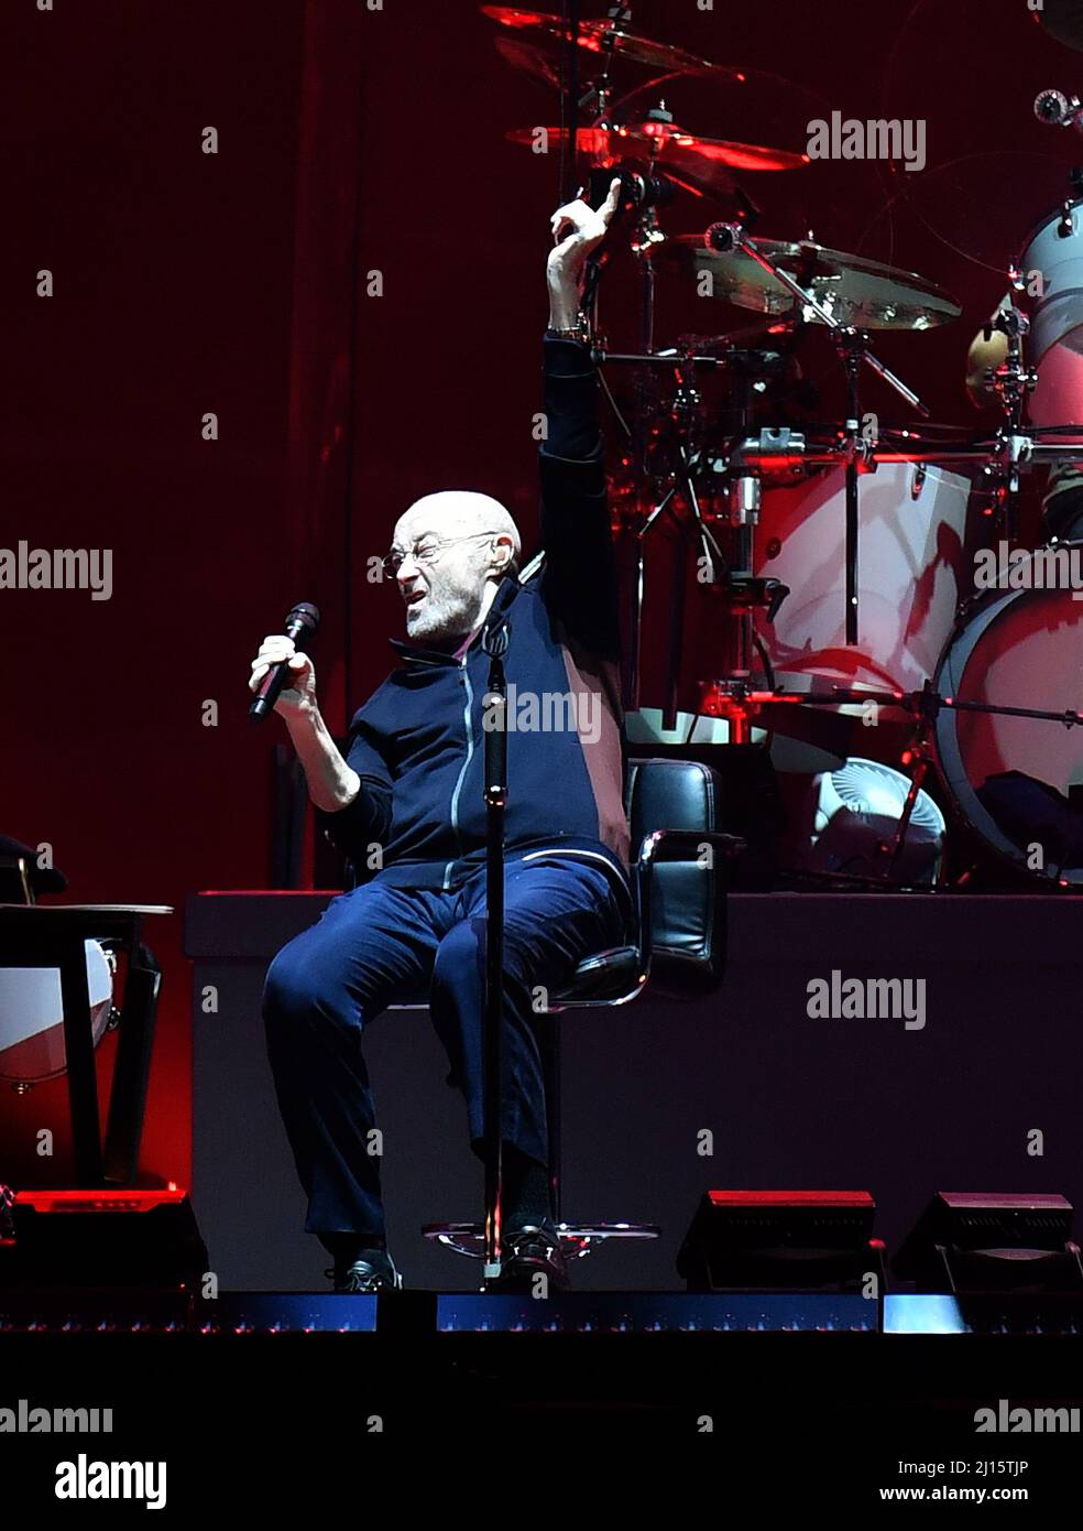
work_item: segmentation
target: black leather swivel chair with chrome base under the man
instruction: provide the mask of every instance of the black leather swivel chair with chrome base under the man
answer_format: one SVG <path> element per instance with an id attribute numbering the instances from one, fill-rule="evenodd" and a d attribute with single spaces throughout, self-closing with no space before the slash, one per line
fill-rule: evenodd
<path id="1" fill-rule="evenodd" d="M 587 957 L 572 983 L 551 997 L 548 1010 L 627 1004 L 650 983 L 670 997 L 716 991 L 725 975 L 727 891 L 730 862 L 745 842 L 717 830 L 719 778 L 696 761 L 650 758 L 629 761 L 624 807 L 638 847 L 630 868 L 635 928 L 629 942 Z M 393 1006 L 416 1009 L 424 1006 Z M 568 1258 L 583 1257 L 607 1239 L 656 1239 L 656 1223 L 566 1223 L 560 1213 L 560 1027 L 548 1027 L 542 1044 L 549 1128 L 549 1174 L 554 1213 Z M 422 1228 L 459 1254 L 482 1258 L 483 1225 L 428 1223 Z"/>

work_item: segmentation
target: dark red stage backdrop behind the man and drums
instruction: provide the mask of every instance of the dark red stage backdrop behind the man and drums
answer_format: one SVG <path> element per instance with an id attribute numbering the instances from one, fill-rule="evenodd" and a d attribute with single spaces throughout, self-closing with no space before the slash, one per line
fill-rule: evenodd
<path id="1" fill-rule="evenodd" d="M 597 14 L 597 6 L 586 6 Z M 750 69 L 746 98 L 673 83 L 691 132 L 805 147 L 828 116 L 927 119 L 929 168 L 812 164 L 748 178 L 759 233 L 863 250 L 965 305 L 881 352 L 933 418 L 970 424 L 968 340 L 1028 228 L 1063 194 L 1078 139 L 1042 129 L 1042 86 L 1083 60 L 1026 0 L 924 5 L 646 0 L 638 31 Z M 324 706 L 343 727 L 384 675 L 393 591 L 366 580 L 405 505 L 436 488 L 535 517 L 543 256 L 557 164 L 503 141 L 555 103 L 496 54 L 463 0 L 34 0 L 0 11 L 6 547 L 113 550 L 113 597 L 0 592 L 0 830 L 54 847 L 76 900 L 168 902 L 272 877 L 277 720 L 245 678 L 298 599 L 324 612 Z M 753 72 L 780 77 L 776 83 Z M 642 78 L 629 70 L 629 86 Z M 652 104 L 650 100 L 646 104 Z M 217 155 L 200 149 L 219 133 Z M 679 204 L 672 231 L 719 211 Z M 630 340 L 633 288 L 604 317 Z M 37 273 L 55 295 L 35 295 Z M 382 295 L 366 274 L 382 273 Z M 739 314 L 662 285 L 659 334 Z M 821 337 L 820 337 L 821 338 Z M 826 343 L 808 371 L 840 403 Z M 872 384 L 867 409 L 899 418 Z M 202 439 L 214 412 L 219 439 Z M 529 537 L 528 537 L 529 540 Z M 691 614 L 710 652 L 710 609 Z M 690 675 L 698 671 L 690 666 Z M 219 721 L 205 727 L 203 704 Z M 311 868 L 311 856 L 307 867 Z M 191 1173 L 190 965 L 180 912 L 147 939 L 165 971 L 142 1182 Z M 99 1049 L 102 1098 L 115 1038 Z M 66 1183 L 28 1144 L 63 1087 L 3 1093 L 3 1168 Z"/>

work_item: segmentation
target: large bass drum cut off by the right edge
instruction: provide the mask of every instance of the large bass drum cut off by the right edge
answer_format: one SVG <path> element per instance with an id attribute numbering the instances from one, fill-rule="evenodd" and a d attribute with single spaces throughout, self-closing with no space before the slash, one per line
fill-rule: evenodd
<path id="1" fill-rule="evenodd" d="M 956 701 L 1083 712 L 1083 542 L 1039 548 L 959 622 L 935 677 Z M 1054 583 L 1055 582 L 1055 583 Z M 941 709 L 936 766 L 961 818 L 1033 877 L 1083 883 L 1083 727 Z"/>

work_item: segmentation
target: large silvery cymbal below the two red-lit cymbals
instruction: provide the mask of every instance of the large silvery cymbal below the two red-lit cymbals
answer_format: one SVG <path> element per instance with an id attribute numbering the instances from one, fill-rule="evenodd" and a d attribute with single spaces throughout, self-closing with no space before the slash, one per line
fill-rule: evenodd
<path id="1" fill-rule="evenodd" d="M 840 325 L 857 329 L 935 329 L 962 312 L 944 288 L 915 271 L 811 240 L 757 239 L 757 250 L 792 277 Z M 710 271 L 713 295 L 759 314 L 789 314 L 797 299 L 746 251 L 708 250 L 702 234 L 676 234 L 650 246 L 650 257 L 694 273 Z M 821 323 L 809 309 L 811 323 Z"/>

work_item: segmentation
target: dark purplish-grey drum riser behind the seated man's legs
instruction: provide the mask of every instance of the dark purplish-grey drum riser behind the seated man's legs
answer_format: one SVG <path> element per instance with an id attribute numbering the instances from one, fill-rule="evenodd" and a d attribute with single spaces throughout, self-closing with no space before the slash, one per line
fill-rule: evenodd
<path id="1" fill-rule="evenodd" d="M 268 961 L 327 899 L 225 893 L 188 903 L 191 1194 L 223 1288 L 326 1286 L 327 1260 L 303 1232 L 259 1007 Z M 889 1254 L 938 1190 L 1083 1203 L 1080 929 L 1083 899 L 1071 894 L 733 894 L 719 994 L 679 1001 L 649 989 L 620 1009 L 554 1017 L 563 1217 L 662 1229 L 592 1254 L 577 1289 L 682 1291 L 676 1252 L 708 1188 L 870 1191 Z M 924 980 L 924 1026 L 811 1018 L 808 984 L 832 971 Z M 364 1047 L 396 1262 L 410 1286 L 476 1291 L 474 1263 L 419 1231 L 477 1220 L 482 1205 L 462 1101 L 445 1085 L 428 1018 L 387 1012 Z"/>

